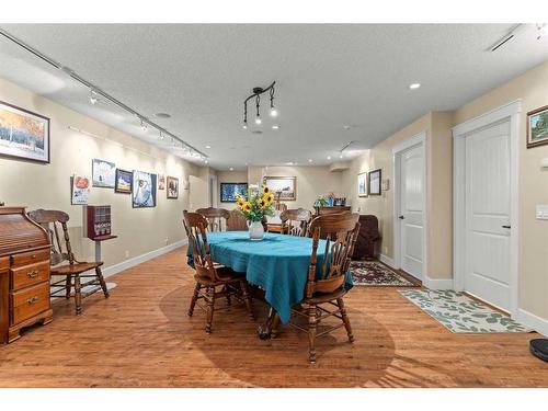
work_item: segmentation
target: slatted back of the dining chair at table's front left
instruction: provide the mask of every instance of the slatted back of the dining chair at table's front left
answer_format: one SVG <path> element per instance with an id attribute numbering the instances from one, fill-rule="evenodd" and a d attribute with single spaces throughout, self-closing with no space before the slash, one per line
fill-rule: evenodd
<path id="1" fill-rule="evenodd" d="M 192 253 L 194 269 L 198 277 L 217 282 L 219 277 L 215 269 L 207 243 L 207 227 L 209 222 L 198 213 L 183 212 L 183 225 L 189 237 L 189 247 Z"/>

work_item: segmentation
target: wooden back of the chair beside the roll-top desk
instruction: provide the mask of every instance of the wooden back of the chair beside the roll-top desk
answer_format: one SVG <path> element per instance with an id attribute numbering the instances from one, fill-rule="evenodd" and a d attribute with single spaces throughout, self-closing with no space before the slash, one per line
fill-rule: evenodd
<path id="1" fill-rule="evenodd" d="M 58 265 L 64 261 L 68 261 L 71 265 L 78 262 L 70 247 L 70 238 L 67 229 L 69 216 L 67 213 L 41 208 L 28 213 L 28 217 L 41 225 L 49 237 L 49 242 L 52 243 L 52 265 Z M 62 240 L 60 232 L 62 232 Z"/>

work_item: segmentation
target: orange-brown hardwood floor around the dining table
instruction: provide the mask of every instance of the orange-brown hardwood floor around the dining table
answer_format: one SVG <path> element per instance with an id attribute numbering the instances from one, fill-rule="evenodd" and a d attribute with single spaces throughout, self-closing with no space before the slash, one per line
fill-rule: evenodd
<path id="1" fill-rule="evenodd" d="M 182 249 L 109 282 L 104 299 L 54 305 L 54 321 L 0 346 L 1 387 L 535 387 L 548 364 L 528 353 L 538 334 L 454 334 L 395 287 L 354 287 L 345 298 L 355 342 L 344 329 L 318 339 L 308 363 L 306 334 L 285 327 L 261 341 L 235 304 L 186 311 L 194 279 Z M 155 286 L 152 286 L 155 284 Z M 265 307 L 256 302 L 262 318 Z"/>

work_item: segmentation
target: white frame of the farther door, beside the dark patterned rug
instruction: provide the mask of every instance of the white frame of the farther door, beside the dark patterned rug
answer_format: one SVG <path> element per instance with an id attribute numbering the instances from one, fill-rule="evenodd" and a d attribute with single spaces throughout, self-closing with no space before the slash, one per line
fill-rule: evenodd
<path id="1" fill-rule="evenodd" d="M 392 175 L 393 175 L 393 216 L 392 216 L 392 227 L 393 227 L 393 267 L 401 269 L 401 228 L 400 228 L 400 208 L 401 208 L 401 181 L 400 181 L 400 171 L 401 171 L 401 153 L 406 150 L 409 150 L 413 147 L 422 148 L 422 157 L 423 157 L 423 168 L 422 168 L 422 179 L 423 179 L 423 191 L 422 191 L 422 281 L 424 282 L 426 276 L 426 267 L 427 267 L 427 203 L 426 203 L 426 191 L 427 191 L 427 182 L 426 182 L 426 132 L 421 132 L 418 135 L 407 139 L 403 142 L 400 142 L 398 146 L 392 148 Z"/>

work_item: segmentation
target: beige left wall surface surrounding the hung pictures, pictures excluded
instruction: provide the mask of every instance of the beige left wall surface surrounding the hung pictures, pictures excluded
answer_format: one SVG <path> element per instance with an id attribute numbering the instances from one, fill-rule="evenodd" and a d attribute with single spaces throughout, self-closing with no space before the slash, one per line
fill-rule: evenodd
<path id="1" fill-rule="evenodd" d="M 75 251 L 81 259 L 92 259 L 93 243 L 82 238 L 82 206 L 70 204 L 70 176 L 80 173 L 91 178 L 91 161 L 100 158 L 122 169 L 180 180 L 179 198 L 168 199 L 164 190 L 158 191 L 156 208 L 134 209 L 128 194 L 91 189 L 89 204 L 112 205 L 113 231 L 118 236 L 103 243 L 106 266 L 124 261 L 126 252 L 134 258 L 184 238 L 180 221 L 189 191 L 183 190 L 183 181 L 199 168 L 2 79 L 0 100 L 49 117 L 52 135 L 50 164 L 0 158 L 0 201 L 5 205 L 67 212 Z M 69 126 L 112 141 L 70 130 Z"/>

